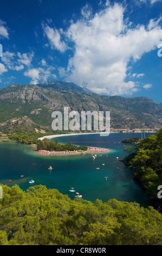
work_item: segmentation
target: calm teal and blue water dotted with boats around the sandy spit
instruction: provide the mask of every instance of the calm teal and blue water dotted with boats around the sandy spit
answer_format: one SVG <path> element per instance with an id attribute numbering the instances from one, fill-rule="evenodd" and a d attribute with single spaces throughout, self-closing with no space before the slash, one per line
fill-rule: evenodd
<path id="1" fill-rule="evenodd" d="M 119 142 L 123 138 L 140 136 L 138 133 L 112 133 L 108 137 L 78 135 L 58 138 L 61 143 L 70 141 L 76 145 L 110 149 L 108 153 L 97 153 L 95 160 L 90 154 L 40 156 L 31 152 L 30 146 L 0 143 L 0 183 L 8 186 L 17 184 L 22 190 L 42 184 L 68 194 L 71 199 L 75 193 L 70 193 L 69 189 L 74 187 L 76 192 L 82 194 L 83 199 L 92 202 L 97 198 L 103 202 L 115 198 L 126 202 L 135 201 L 141 206 L 153 205 L 152 200 L 132 179 L 133 171 L 119 161 L 127 155 L 123 151 L 124 144 Z M 33 166 L 33 163 L 36 165 Z M 105 163 L 105 166 L 102 166 L 102 163 Z M 53 170 L 49 170 L 49 166 L 52 166 Z M 96 167 L 100 170 L 96 170 Z M 24 178 L 21 178 L 21 175 L 24 175 Z M 107 180 L 105 176 L 108 176 Z M 29 184 L 30 179 L 35 180 L 35 183 Z"/>

